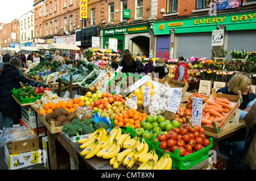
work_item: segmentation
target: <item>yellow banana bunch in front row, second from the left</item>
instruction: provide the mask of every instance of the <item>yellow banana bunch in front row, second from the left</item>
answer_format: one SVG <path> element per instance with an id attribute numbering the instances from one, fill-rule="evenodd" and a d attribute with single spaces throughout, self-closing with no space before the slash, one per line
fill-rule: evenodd
<path id="1" fill-rule="evenodd" d="M 105 159 L 110 159 L 115 157 L 120 151 L 120 145 L 117 143 L 117 140 L 114 138 L 112 142 L 110 142 L 108 145 L 106 145 L 104 148 L 102 148 L 98 153 L 96 154 L 97 157 L 102 157 Z"/>

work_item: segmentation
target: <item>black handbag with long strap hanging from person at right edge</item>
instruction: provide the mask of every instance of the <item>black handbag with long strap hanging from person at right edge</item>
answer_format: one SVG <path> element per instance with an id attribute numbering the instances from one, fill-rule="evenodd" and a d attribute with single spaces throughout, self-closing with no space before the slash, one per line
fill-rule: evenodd
<path id="1" fill-rule="evenodd" d="M 246 144 L 246 147 L 243 151 L 237 151 L 236 153 L 232 154 L 228 158 L 228 162 L 226 164 L 226 170 L 251 170 L 249 165 L 245 163 L 245 156 L 247 154 L 247 151 L 250 148 L 251 141 L 253 141 L 253 137 L 255 134 L 255 128 L 253 130 L 253 133 L 250 136 L 249 141 Z"/>

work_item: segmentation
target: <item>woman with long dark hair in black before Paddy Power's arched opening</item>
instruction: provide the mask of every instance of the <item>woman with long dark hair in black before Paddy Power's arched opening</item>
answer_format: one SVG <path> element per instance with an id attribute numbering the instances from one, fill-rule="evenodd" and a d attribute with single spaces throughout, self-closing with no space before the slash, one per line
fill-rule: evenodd
<path id="1" fill-rule="evenodd" d="M 126 49 L 123 51 L 121 65 L 123 73 L 134 73 L 136 70 L 136 64 L 133 56 L 131 56 L 130 50 Z"/>

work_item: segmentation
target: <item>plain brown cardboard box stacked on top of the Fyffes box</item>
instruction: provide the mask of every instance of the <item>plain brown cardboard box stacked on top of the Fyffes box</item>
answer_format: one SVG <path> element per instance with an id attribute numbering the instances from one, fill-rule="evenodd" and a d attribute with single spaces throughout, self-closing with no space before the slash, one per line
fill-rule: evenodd
<path id="1" fill-rule="evenodd" d="M 34 132 L 35 133 L 35 132 Z M 7 143 L 7 148 L 10 154 L 24 153 L 39 149 L 39 137 L 35 133 L 36 138 L 20 141 L 11 141 Z"/>

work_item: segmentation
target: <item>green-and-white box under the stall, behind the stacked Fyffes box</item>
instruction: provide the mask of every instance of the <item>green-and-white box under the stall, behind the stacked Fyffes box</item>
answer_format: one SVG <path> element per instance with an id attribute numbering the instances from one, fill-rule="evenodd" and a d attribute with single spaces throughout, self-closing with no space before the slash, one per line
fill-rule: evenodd
<path id="1" fill-rule="evenodd" d="M 24 123 L 31 128 L 36 128 L 36 112 L 31 110 L 31 107 L 22 106 L 22 120 Z M 38 117 L 37 117 L 38 118 Z M 38 119 L 38 128 L 43 127 L 44 124 Z"/>

